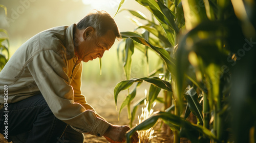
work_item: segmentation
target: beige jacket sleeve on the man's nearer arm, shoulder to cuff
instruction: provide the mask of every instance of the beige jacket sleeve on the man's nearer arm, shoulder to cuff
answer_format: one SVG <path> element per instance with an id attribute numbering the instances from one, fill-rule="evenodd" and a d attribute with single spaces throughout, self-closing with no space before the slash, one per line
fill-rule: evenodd
<path id="1" fill-rule="evenodd" d="M 98 118 L 93 110 L 74 102 L 74 90 L 65 73 L 65 63 L 60 53 L 45 50 L 35 54 L 27 66 L 56 118 L 70 124 L 77 131 L 102 136 L 110 124 Z M 79 95 L 77 97 L 79 101 L 81 98 Z"/>

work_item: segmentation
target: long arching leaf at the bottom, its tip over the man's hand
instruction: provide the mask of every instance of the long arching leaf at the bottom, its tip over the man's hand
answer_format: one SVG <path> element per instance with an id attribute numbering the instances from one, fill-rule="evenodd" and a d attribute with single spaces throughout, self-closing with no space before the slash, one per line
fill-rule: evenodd
<path id="1" fill-rule="evenodd" d="M 152 117 L 148 118 L 138 126 L 133 127 L 129 132 L 126 133 L 126 141 L 129 143 L 131 141 L 132 135 L 135 133 L 137 130 L 146 130 L 151 127 L 153 127 L 158 119 L 162 119 L 168 126 L 171 127 L 184 127 L 184 128 L 189 128 L 191 132 L 199 132 L 205 135 L 208 138 L 216 139 L 216 136 L 212 134 L 208 129 L 205 129 L 201 125 L 195 126 L 194 124 L 186 121 L 185 119 L 175 116 L 172 113 L 167 113 L 167 112 L 158 112 Z M 191 134 L 191 132 L 188 132 Z M 189 139 L 189 138 L 188 138 Z"/>

